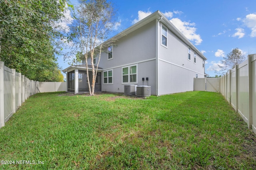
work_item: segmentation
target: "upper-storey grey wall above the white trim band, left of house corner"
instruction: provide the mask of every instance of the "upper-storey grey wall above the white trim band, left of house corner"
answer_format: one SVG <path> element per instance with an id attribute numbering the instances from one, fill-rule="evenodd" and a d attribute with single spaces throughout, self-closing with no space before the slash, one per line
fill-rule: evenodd
<path id="1" fill-rule="evenodd" d="M 108 49 L 102 49 L 99 67 L 109 69 L 129 63 L 136 63 L 156 57 L 155 21 L 124 35 L 113 44 L 113 59 L 108 60 Z M 98 61 L 98 58 L 96 59 Z M 88 64 L 91 59 L 88 58 Z M 83 61 L 85 64 L 85 61 Z"/>

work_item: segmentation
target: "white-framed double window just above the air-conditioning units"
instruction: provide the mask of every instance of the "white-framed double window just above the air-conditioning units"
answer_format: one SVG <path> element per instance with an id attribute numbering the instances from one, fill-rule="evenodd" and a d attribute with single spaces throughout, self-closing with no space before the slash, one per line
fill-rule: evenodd
<path id="1" fill-rule="evenodd" d="M 122 83 L 137 83 L 137 72 L 137 65 L 122 67 Z"/>

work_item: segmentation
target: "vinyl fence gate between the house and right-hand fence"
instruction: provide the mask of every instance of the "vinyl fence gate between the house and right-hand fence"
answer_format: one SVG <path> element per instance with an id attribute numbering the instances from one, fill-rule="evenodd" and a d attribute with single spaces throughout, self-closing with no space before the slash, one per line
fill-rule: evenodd
<path id="1" fill-rule="evenodd" d="M 219 78 L 194 78 L 194 91 L 219 92 Z"/>

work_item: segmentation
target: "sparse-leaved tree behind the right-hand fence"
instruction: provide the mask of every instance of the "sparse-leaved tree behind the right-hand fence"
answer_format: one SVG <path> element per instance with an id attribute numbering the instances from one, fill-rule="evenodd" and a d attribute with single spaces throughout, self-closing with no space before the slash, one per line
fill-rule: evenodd
<path id="1" fill-rule="evenodd" d="M 241 64 L 245 59 L 246 57 L 240 49 L 232 49 L 227 57 L 223 57 L 221 64 L 218 64 L 221 69 L 220 72 L 222 72 L 222 74 L 226 73 L 228 70 L 235 68 L 236 64 Z"/>

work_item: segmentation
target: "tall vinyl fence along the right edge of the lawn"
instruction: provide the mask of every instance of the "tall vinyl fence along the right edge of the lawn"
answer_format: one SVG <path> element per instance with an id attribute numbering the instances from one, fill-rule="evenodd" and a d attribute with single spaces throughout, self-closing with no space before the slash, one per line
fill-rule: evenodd
<path id="1" fill-rule="evenodd" d="M 219 92 L 256 134 L 256 54 L 249 55 L 246 61 L 216 80 Z M 194 90 L 208 91 L 200 89 L 200 83 L 202 80 L 194 81 Z"/>

